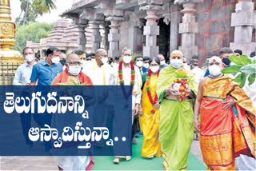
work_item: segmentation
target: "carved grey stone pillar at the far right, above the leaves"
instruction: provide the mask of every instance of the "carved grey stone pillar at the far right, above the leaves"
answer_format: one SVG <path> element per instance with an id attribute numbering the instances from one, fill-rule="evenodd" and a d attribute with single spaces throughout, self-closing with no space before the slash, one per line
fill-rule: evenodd
<path id="1" fill-rule="evenodd" d="M 235 13 L 231 14 L 231 26 L 234 26 L 234 42 L 230 43 L 231 50 L 242 50 L 250 55 L 256 50 L 256 42 L 252 42 L 253 29 L 256 26 L 256 12 L 252 0 L 238 0 Z"/>

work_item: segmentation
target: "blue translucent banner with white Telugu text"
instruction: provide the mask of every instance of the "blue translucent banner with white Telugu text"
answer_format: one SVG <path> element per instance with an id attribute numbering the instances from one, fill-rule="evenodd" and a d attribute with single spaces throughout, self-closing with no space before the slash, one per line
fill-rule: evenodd
<path id="1" fill-rule="evenodd" d="M 130 86 L 0 86 L 0 156 L 131 156 Z"/>

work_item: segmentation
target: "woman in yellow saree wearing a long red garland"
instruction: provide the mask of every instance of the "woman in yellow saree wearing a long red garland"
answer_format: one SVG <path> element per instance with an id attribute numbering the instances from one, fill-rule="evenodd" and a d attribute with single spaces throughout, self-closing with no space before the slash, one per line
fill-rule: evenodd
<path id="1" fill-rule="evenodd" d="M 143 133 L 142 157 L 152 158 L 161 156 L 161 145 L 159 141 L 160 105 L 156 93 L 159 58 L 150 58 L 150 70 L 142 75 L 142 115 L 139 123 Z"/>

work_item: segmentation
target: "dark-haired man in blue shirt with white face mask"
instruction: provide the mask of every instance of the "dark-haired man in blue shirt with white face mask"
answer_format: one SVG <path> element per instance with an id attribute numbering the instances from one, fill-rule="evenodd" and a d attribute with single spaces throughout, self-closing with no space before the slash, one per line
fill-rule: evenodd
<path id="1" fill-rule="evenodd" d="M 33 66 L 30 85 L 50 85 L 54 78 L 63 71 L 62 64 L 59 62 L 59 50 L 50 47 L 46 50 L 47 58 Z"/>

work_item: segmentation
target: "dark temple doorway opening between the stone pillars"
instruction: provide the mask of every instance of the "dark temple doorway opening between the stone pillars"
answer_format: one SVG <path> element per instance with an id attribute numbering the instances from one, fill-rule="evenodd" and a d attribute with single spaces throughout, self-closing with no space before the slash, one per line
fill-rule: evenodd
<path id="1" fill-rule="evenodd" d="M 158 19 L 160 33 L 157 38 L 157 45 L 159 46 L 159 54 L 164 55 L 166 61 L 168 61 L 170 54 L 170 23 L 166 25 L 166 23 L 163 22 L 163 19 L 164 18 Z"/>

